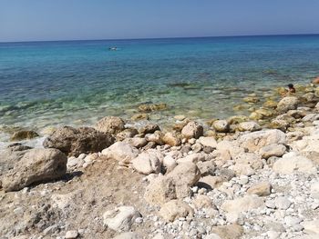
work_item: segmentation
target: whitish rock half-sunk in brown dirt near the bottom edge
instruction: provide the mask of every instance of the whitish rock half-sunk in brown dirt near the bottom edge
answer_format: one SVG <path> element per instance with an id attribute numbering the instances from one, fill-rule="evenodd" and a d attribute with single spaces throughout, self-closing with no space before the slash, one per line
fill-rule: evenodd
<path id="1" fill-rule="evenodd" d="M 103 223 L 117 232 L 128 232 L 135 219 L 141 217 L 133 206 L 119 206 L 103 214 Z"/>

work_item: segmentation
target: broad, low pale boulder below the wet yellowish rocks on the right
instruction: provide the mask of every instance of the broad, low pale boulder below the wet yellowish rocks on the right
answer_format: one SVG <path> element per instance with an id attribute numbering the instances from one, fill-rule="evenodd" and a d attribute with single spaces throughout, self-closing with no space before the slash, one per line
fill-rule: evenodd
<path id="1" fill-rule="evenodd" d="M 237 143 L 241 147 L 247 148 L 250 152 L 255 152 L 270 144 L 285 144 L 286 136 L 277 129 L 262 130 L 243 134 L 238 138 Z"/>

